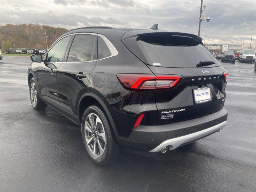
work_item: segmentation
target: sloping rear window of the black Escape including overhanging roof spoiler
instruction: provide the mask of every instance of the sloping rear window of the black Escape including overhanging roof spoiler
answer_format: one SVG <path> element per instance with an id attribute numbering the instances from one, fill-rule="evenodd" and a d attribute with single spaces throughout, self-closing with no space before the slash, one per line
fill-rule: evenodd
<path id="1" fill-rule="evenodd" d="M 212 61 L 220 66 L 197 36 L 172 33 L 142 34 L 122 40 L 142 62 L 160 67 L 196 68 L 200 61 Z"/>

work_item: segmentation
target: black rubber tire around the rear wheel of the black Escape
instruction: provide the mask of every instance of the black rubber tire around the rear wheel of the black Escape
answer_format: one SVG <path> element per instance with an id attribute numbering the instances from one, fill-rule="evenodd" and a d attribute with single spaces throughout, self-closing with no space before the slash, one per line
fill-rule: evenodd
<path id="1" fill-rule="evenodd" d="M 87 116 L 89 116 L 90 114 L 96 114 L 100 118 L 101 123 L 104 127 L 106 142 L 104 143 L 104 152 L 102 153 L 101 156 L 95 156 L 93 154 L 93 152 L 91 151 L 92 149 L 89 148 L 89 145 L 86 142 L 85 123 L 86 123 Z M 94 126 L 94 128 L 95 128 L 95 126 Z M 88 156 L 90 157 L 90 159 L 96 164 L 99 164 L 99 165 L 110 164 L 110 163 L 114 162 L 114 160 L 116 160 L 116 158 L 122 152 L 122 147 L 120 147 L 118 145 L 118 142 L 116 141 L 114 132 L 111 128 L 111 125 L 108 121 L 108 118 L 107 118 L 104 110 L 102 110 L 102 108 L 100 108 L 97 105 L 91 105 L 88 108 L 86 108 L 86 110 L 84 111 L 84 114 L 82 117 L 81 132 L 82 132 L 82 139 L 84 142 L 84 146 L 86 148 L 86 152 L 87 152 Z M 97 144 L 97 146 L 98 145 L 99 144 Z M 99 149 L 99 146 L 98 146 L 98 149 Z"/>

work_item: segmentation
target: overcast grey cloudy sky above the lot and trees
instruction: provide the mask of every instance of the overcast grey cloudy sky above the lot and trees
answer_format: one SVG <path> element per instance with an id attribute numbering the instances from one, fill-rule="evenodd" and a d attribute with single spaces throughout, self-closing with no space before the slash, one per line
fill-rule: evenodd
<path id="1" fill-rule="evenodd" d="M 1 0 L 0 24 L 40 23 L 158 28 L 198 34 L 200 0 Z M 201 37 L 209 43 L 256 44 L 256 0 L 204 0 Z M 207 41 L 206 41 L 207 42 Z"/>

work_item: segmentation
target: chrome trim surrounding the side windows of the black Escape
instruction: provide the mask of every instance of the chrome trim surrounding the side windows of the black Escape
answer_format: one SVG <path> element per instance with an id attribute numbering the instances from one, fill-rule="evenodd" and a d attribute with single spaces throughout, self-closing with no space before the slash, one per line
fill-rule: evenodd
<path id="1" fill-rule="evenodd" d="M 62 40 L 63 38 L 67 37 L 67 36 L 72 36 L 72 35 L 80 35 L 80 34 L 84 34 L 84 35 L 95 35 L 95 36 L 100 36 L 104 42 L 106 43 L 106 45 L 108 46 L 111 55 L 102 59 L 97 59 L 97 60 L 92 60 L 92 61 L 79 61 L 79 62 L 52 62 L 52 63 L 88 63 L 88 62 L 94 62 L 94 61 L 99 61 L 99 60 L 103 60 L 103 59 L 107 59 L 110 57 L 114 57 L 118 55 L 118 51 L 116 50 L 116 48 L 114 47 L 114 45 L 110 42 L 110 40 L 108 40 L 108 38 L 106 38 L 104 35 L 102 34 L 98 34 L 98 33 L 87 33 L 87 32 L 80 32 L 80 33 L 72 33 L 72 34 L 68 34 L 63 36 L 62 38 L 60 38 L 59 40 L 56 40 L 56 42 L 54 42 L 50 48 L 48 49 L 48 51 L 44 54 L 44 57 L 46 56 L 46 54 L 48 54 L 48 52 L 52 49 L 52 47 L 58 43 L 60 40 Z M 97 45 L 98 46 L 98 45 Z M 44 57 L 42 60 L 44 60 Z"/>

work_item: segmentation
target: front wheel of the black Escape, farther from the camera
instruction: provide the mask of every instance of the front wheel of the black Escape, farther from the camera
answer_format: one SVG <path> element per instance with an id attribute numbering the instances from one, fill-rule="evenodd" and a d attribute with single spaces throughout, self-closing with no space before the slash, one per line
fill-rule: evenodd
<path id="1" fill-rule="evenodd" d="M 30 93 L 30 102 L 34 109 L 40 110 L 46 108 L 47 104 L 43 102 L 38 96 L 38 88 L 36 87 L 36 82 L 34 77 L 31 78 L 29 83 L 29 93 Z"/>

